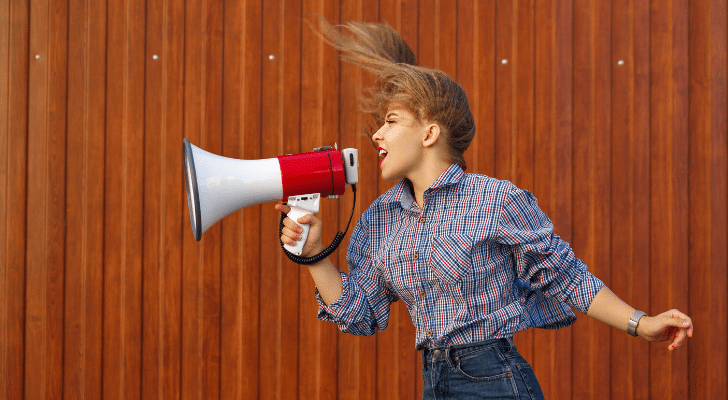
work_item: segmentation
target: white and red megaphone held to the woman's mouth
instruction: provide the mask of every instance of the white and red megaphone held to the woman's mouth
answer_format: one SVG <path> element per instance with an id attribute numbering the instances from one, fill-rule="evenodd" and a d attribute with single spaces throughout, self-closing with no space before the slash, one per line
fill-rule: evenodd
<path id="1" fill-rule="evenodd" d="M 217 221 L 254 204 L 287 199 L 288 217 L 294 221 L 316 214 L 321 197 L 336 198 L 346 185 L 359 181 L 357 149 L 326 146 L 310 153 L 242 160 L 207 152 L 186 138 L 183 145 L 187 206 L 197 241 Z M 284 245 L 297 256 L 308 237 L 308 224 L 301 227 L 296 246 Z"/>

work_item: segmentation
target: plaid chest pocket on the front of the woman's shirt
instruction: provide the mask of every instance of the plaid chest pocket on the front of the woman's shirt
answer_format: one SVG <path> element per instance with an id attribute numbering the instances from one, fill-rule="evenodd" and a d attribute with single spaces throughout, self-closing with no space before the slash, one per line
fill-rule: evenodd
<path id="1" fill-rule="evenodd" d="M 431 267 L 435 275 L 449 284 L 457 284 L 473 271 L 473 237 L 447 235 L 432 239 Z"/>

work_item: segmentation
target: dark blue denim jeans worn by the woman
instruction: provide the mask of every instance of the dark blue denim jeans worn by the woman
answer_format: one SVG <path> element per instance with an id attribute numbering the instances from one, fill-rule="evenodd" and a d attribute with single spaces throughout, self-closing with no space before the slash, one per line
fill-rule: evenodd
<path id="1" fill-rule="evenodd" d="M 422 351 L 423 399 L 543 399 L 511 338 Z"/>

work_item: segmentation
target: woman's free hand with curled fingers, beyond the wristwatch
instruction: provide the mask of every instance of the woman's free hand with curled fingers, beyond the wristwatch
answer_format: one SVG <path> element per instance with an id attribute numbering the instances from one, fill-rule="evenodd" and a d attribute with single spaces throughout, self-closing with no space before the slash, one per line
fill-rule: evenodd
<path id="1" fill-rule="evenodd" d="M 644 316 L 637 325 L 637 334 L 650 342 L 671 340 L 669 350 L 680 347 L 686 337 L 693 337 L 693 321 L 678 310 L 654 317 Z"/>

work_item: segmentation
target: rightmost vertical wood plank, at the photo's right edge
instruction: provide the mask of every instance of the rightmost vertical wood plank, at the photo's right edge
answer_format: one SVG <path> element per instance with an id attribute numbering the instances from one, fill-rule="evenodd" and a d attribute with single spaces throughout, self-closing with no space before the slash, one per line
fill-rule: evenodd
<path id="1" fill-rule="evenodd" d="M 690 4 L 690 316 L 696 326 L 710 326 L 688 343 L 689 394 L 696 399 L 726 393 L 714 372 L 726 369 L 726 323 L 713 318 L 727 303 L 725 15 L 724 1 Z"/>

